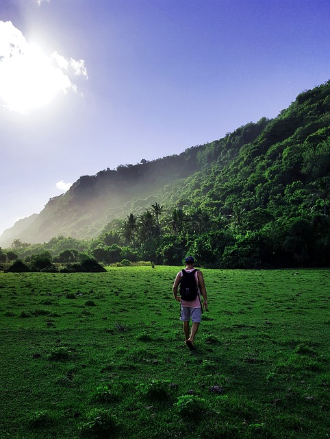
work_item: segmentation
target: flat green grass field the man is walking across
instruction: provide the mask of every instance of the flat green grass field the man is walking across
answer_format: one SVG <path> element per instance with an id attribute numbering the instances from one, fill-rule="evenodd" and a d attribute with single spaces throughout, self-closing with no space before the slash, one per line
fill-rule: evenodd
<path id="1" fill-rule="evenodd" d="M 329 270 L 178 270 L 0 272 L 0 438 L 329 438 Z"/>

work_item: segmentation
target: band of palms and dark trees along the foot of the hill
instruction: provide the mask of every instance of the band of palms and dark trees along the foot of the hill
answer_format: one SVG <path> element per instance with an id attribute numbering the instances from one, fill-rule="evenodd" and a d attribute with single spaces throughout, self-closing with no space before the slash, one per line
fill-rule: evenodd
<path id="1" fill-rule="evenodd" d="M 186 254 L 192 254 L 206 268 L 329 267 L 329 193 L 327 197 L 325 204 L 319 199 L 318 211 L 279 217 L 258 229 L 241 206 L 213 215 L 193 207 L 168 211 L 155 203 L 140 215 L 131 213 L 123 221 L 109 223 L 91 241 L 55 237 L 43 245 L 30 245 L 16 239 L 10 250 L 0 250 L 0 262 L 21 259 L 36 271 L 50 271 L 54 263 L 72 268 L 86 261 L 181 265 Z"/>

